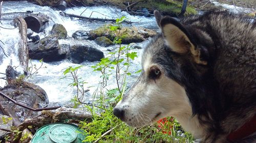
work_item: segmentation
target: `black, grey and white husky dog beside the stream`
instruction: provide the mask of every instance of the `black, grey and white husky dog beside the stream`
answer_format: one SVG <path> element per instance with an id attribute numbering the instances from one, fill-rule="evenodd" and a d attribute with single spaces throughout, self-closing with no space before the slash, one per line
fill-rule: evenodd
<path id="1" fill-rule="evenodd" d="M 161 33 L 114 115 L 133 127 L 173 116 L 202 142 L 256 141 L 256 24 L 227 11 L 154 14 Z"/>

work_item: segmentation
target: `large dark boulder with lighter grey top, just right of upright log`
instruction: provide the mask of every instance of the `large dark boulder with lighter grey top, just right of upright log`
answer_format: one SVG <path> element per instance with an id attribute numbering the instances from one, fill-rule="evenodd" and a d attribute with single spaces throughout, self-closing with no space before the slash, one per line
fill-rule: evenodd
<path id="1" fill-rule="evenodd" d="M 66 53 L 60 53 L 57 35 L 47 36 L 35 43 L 28 42 L 29 58 L 45 62 L 61 61 L 66 58 Z"/>

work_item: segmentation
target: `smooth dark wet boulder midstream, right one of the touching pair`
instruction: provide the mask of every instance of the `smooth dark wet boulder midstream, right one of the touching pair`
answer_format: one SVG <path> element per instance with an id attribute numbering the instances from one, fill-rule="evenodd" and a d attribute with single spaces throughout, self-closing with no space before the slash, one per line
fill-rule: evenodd
<path id="1" fill-rule="evenodd" d="M 100 61 L 104 58 L 104 54 L 92 46 L 74 45 L 70 49 L 69 58 L 73 63 L 79 64 L 84 61 Z"/>

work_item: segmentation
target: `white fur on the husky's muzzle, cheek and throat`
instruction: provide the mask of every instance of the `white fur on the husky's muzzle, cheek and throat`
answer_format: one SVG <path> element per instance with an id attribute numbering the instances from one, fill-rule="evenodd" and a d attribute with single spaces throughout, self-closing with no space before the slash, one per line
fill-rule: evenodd
<path id="1" fill-rule="evenodd" d="M 143 64 L 144 76 L 140 77 L 135 87 L 120 101 L 116 108 L 125 110 L 124 122 L 133 127 L 150 125 L 164 117 L 175 117 L 185 130 L 190 131 L 196 138 L 202 138 L 203 127 L 197 116 L 192 117 L 192 109 L 185 89 L 173 79 L 165 76 L 164 71 L 156 81 L 142 80 L 148 78 L 151 66 L 156 66 L 146 56 Z M 155 116 L 160 113 L 160 116 Z"/>

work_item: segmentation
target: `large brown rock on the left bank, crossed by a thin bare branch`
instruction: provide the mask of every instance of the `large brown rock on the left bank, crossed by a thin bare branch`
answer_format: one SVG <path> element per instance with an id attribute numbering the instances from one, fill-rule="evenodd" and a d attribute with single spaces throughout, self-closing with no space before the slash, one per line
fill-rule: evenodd
<path id="1" fill-rule="evenodd" d="M 46 92 L 38 85 L 25 81 L 10 80 L 8 85 L 1 89 L 1 92 L 11 97 L 19 103 L 23 103 L 32 108 L 46 107 L 49 103 Z M 33 118 L 38 115 L 38 112 L 18 106 L 10 101 L 8 102 L 12 110 L 15 111 L 20 121 L 26 118 Z"/>

